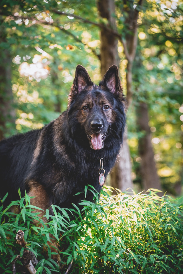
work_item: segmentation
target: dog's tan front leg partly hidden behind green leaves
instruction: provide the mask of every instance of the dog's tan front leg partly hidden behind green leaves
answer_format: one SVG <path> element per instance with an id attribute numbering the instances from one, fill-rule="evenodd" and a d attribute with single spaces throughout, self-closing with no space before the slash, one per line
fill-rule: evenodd
<path id="1" fill-rule="evenodd" d="M 31 205 L 39 207 L 40 209 L 43 209 L 43 211 L 35 209 L 35 213 L 39 213 L 38 217 L 42 219 L 44 223 L 47 223 L 48 220 L 45 216 L 43 217 L 43 215 L 45 215 L 46 209 L 50 207 L 50 202 L 49 202 L 49 196 L 45 188 L 42 185 L 35 182 L 29 183 L 29 188 L 30 189 L 29 189 L 28 195 L 34 197 L 34 198 L 31 198 Z M 38 220 L 33 220 L 33 224 L 39 227 L 42 226 Z M 59 251 L 56 244 L 57 240 L 52 234 L 49 234 L 49 237 L 50 237 L 50 241 L 47 241 L 47 245 L 49 245 L 51 252 L 57 253 L 57 255 L 52 254 L 51 259 L 59 263 L 61 259 L 59 257 Z"/>

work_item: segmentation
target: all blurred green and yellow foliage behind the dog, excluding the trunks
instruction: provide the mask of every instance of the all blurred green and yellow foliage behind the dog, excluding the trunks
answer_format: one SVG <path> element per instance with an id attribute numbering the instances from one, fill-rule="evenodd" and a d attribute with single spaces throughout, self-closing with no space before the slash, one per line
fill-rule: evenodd
<path id="1" fill-rule="evenodd" d="M 133 102 L 127 113 L 128 139 L 134 183 L 141 184 L 138 140 L 143 132 L 136 127 L 136 107 L 145 102 L 149 108 L 149 126 L 155 161 L 163 188 L 180 194 L 182 181 L 182 0 L 115 1 L 116 31 L 128 34 L 129 9 L 140 9 L 138 49 L 133 65 Z M 101 19 L 96 1 L 21 1 L 0 3 L 0 62 L 10 55 L 14 124 L 5 118 L 4 137 L 40 128 L 58 117 L 67 107 L 67 94 L 75 67 L 86 67 L 94 82 L 100 80 Z M 5 51 L 6 50 L 6 51 Z M 120 74 L 126 92 L 124 49 L 119 42 Z M 32 68 L 32 69 L 31 69 Z M 1 79 L 1 95 L 3 79 Z M 0 100 L 3 109 L 3 103 Z M 0 108 L 1 109 L 1 108 Z M 0 130 L 1 130 L 0 121 Z M 178 190 L 177 190 L 178 189 Z"/>

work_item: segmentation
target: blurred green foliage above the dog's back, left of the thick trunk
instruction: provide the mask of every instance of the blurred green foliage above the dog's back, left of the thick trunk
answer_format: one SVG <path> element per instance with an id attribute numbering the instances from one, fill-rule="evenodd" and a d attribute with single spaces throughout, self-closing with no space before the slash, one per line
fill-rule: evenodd
<path id="1" fill-rule="evenodd" d="M 65 110 L 77 64 L 98 77 L 98 59 L 92 53 L 95 47 L 89 49 L 87 45 L 93 40 L 92 35 L 98 37 L 98 29 L 91 34 L 87 24 L 81 27 L 74 17 L 54 12 L 91 16 L 94 9 L 91 1 L 31 0 L 16 1 L 16 5 L 11 0 L 1 1 L 0 31 L 5 38 L 0 40 L 0 51 L 8 49 L 10 55 L 17 132 L 40 128 Z M 6 123 L 5 137 L 10 134 L 8 126 L 13 127 Z"/>

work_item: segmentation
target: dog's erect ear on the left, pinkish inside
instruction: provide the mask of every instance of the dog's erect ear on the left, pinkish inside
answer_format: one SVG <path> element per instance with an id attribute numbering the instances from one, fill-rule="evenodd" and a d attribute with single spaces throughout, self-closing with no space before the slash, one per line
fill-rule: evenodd
<path id="1" fill-rule="evenodd" d="M 93 82 L 91 81 L 87 71 L 81 65 L 77 65 L 75 70 L 75 78 L 73 82 L 73 88 L 71 90 L 72 94 L 78 94 L 86 86 L 92 86 Z"/>

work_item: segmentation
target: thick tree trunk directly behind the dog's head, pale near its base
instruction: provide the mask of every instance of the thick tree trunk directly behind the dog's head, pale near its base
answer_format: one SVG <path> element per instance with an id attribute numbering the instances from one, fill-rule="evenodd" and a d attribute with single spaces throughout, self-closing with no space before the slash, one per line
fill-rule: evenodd
<path id="1" fill-rule="evenodd" d="M 115 14 L 114 0 L 98 0 L 98 11 L 101 17 L 108 19 L 108 27 L 116 31 L 116 19 L 112 16 Z M 118 55 L 118 38 L 113 32 L 107 32 L 101 29 L 101 46 L 100 46 L 101 74 L 105 72 L 111 65 L 117 65 L 119 68 Z M 127 132 L 124 134 L 124 142 L 116 165 L 111 172 L 111 185 L 122 191 L 132 188 L 131 180 L 131 161 L 130 150 L 127 144 Z"/>

